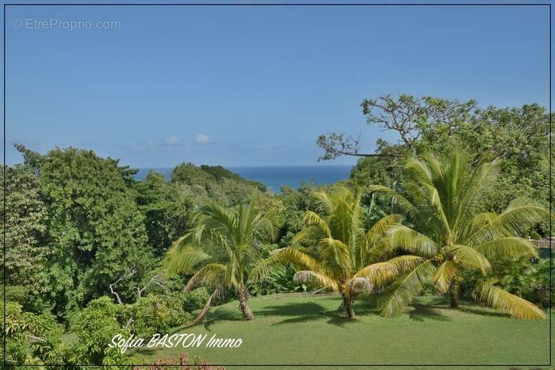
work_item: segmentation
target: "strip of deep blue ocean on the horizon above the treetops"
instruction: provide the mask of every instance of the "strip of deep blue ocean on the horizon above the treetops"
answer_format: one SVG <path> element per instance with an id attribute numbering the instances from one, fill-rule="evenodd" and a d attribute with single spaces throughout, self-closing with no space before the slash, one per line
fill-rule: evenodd
<path id="1" fill-rule="evenodd" d="M 336 183 L 349 178 L 352 166 L 321 165 L 321 166 L 260 166 L 260 167 L 225 167 L 239 174 L 246 180 L 255 180 L 263 183 L 268 190 L 279 192 L 282 185 L 298 188 L 301 183 L 312 181 L 316 185 Z M 142 180 L 148 171 L 160 172 L 169 180 L 171 167 L 139 168 L 135 175 L 137 180 Z"/>

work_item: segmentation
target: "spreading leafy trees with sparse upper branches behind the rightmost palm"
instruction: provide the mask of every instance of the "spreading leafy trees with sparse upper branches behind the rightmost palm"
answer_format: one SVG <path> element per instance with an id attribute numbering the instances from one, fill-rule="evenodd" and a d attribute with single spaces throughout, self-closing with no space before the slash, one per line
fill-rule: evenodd
<path id="1" fill-rule="evenodd" d="M 407 156 L 429 151 L 441 155 L 456 146 L 465 151 L 471 162 L 484 153 L 501 159 L 498 184 L 486 200 L 488 208 L 500 212 L 520 196 L 549 201 L 549 118 L 545 108 L 527 104 L 520 108 L 479 108 L 476 101 L 460 102 L 418 98 L 402 94 L 386 95 L 361 103 L 368 124 L 398 133 L 400 142 L 391 144 L 378 138 L 379 157 L 359 160 L 352 170 L 352 180 L 359 185 L 391 186 L 403 177 L 400 165 Z M 358 144 L 330 135 L 319 138 L 325 150 L 322 159 L 345 155 L 364 155 Z M 547 231 L 543 226 L 540 233 Z"/>

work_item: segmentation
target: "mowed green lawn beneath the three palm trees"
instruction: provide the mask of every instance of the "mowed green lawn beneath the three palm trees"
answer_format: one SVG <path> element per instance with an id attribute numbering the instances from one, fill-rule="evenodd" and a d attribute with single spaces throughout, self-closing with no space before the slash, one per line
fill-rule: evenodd
<path id="1" fill-rule="evenodd" d="M 549 321 L 510 319 L 476 305 L 451 310 L 441 298 L 420 297 L 405 314 L 388 319 L 357 301 L 355 320 L 339 317 L 336 294 L 275 294 L 249 303 L 255 321 L 243 321 L 233 301 L 212 308 L 203 324 L 170 331 L 208 334 L 205 343 L 214 334 L 241 338 L 239 348 L 142 349 L 132 352 L 133 362 L 153 363 L 185 352 L 228 369 L 241 364 L 549 363 Z"/>

